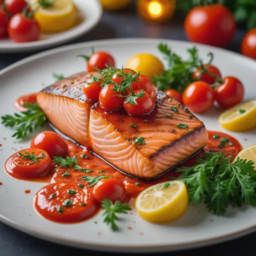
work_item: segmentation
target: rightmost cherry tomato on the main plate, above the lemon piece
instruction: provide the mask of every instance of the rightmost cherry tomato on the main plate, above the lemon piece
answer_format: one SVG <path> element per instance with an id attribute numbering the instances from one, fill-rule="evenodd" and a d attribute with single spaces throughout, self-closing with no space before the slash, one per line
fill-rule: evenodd
<path id="1" fill-rule="evenodd" d="M 224 83 L 214 89 L 215 100 L 223 109 L 228 109 L 241 103 L 244 94 L 244 86 L 235 77 L 225 77 Z"/>

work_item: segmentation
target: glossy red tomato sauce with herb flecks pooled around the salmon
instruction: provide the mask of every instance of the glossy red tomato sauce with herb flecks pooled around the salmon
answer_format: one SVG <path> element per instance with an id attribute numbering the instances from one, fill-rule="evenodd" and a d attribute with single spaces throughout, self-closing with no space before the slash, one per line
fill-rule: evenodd
<path id="1" fill-rule="evenodd" d="M 218 136 L 214 135 L 218 134 Z M 197 156 L 188 159 L 182 166 L 192 166 L 196 164 L 196 159 L 204 156 L 205 152 L 225 151 L 225 156 L 231 155 L 232 159 L 242 149 L 237 139 L 221 132 L 208 131 L 209 143 Z M 225 139 L 225 143 L 222 139 Z M 35 196 L 35 209 L 44 218 L 58 223 L 76 223 L 84 221 L 95 215 L 100 206 L 92 196 L 93 186 L 90 186 L 85 176 L 98 177 L 102 175 L 112 176 L 118 179 L 125 186 L 127 196 L 125 202 L 129 202 L 131 197 L 137 197 L 145 188 L 164 181 L 178 177 L 179 173 L 170 171 L 155 181 L 138 180 L 123 173 L 120 173 L 104 160 L 95 156 L 89 148 L 79 147 L 68 140 L 69 157 L 77 156 L 78 165 L 88 172 L 75 171 L 73 167 L 53 166 L 54 170 L 44 177 L 24 178 L 18 177 L 11 172 L 10 157 L 5 163 L 6 172 L 16 178 L 29 181 L 50 183 L 39 190 Z M 218 146 L 222 145 L 222 146 Z M 68 174 L 67 174 L 68 173 Z"/>

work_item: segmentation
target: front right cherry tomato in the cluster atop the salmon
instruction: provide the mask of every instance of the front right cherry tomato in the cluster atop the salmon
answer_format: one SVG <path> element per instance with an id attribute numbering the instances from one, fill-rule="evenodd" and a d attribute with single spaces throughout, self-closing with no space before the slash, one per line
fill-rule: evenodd
<path id="1" fill-rule="evenodd" d="M 134 93 L 140 93 L 140 90 L 135 90 Z M 143 97 L 137 98 L 136 102 L 138 105 L 124 103 L 125 111 L 131 116 L 143 116 L 150 113 L 154 108 L 153 100 L 147 92 Z"/>

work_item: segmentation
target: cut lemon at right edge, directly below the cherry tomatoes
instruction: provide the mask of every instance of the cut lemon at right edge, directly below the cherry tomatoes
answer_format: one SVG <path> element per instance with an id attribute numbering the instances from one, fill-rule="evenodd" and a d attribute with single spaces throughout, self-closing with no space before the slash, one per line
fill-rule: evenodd
<path id="1" fill-rule="evenodd" d="M 256 127 L 256 100 L 240 103 L 224 111 L 218 122 L 228 131 L 247 131 Z"/>

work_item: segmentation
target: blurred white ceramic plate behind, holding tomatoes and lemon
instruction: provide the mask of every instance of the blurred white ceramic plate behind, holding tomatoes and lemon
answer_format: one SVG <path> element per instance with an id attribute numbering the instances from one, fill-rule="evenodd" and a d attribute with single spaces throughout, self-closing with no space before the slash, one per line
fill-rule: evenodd
<path id="1" fill-rule="evenodd" d="M 74 28 L 54 34 L 42 34 L 39 41 L 29 43 L 15 43 L 10 39 L 0 39 L 0 53 L 26 52 L 47 49 L 55 45 L 76 39 L 89 32 L 102 17 L 102 6 L 98 0 L 73 0 L 76 4 L 83 22 Z"/>

